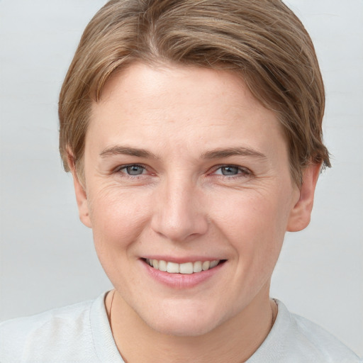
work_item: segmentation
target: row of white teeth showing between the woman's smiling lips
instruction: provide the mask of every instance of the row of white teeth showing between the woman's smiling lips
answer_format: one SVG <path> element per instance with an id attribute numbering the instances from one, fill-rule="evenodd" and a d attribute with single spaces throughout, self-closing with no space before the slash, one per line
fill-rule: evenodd
<path id="1" fill-rule="evenodd" d="M 185 262 L 184 264 L 168 262 L 162 259 L 144 259 L 144 261 L 152 268 L 162 272 L 169 272 L 169 274 L 196 274 L 198 272 L 207 271 L 208 269 L 213 269 L 226 260 L 214 259 L 213 261 Z"/>

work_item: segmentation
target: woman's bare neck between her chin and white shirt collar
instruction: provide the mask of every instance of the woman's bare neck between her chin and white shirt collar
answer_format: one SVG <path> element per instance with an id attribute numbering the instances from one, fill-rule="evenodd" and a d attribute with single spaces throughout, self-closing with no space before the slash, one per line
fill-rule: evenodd
<path id="1" fill-rule="evenodd" d="M 211 332 L 193 337 L 164 335 L 150 328 L 116 292 L 106 297 L 113 337 L 126 363 L 245 362 L 272 328 L 277 306 L 261 291 L 246 308 Z M 111 308 L 112 305 L 112 308 Z"/>

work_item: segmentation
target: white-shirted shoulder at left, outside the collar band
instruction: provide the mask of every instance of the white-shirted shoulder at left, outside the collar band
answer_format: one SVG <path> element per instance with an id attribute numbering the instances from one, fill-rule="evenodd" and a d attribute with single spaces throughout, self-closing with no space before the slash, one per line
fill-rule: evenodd
<path id="1" fill-rule="evenodd" d="M 46 362 L 45 357 L 55 352 L 69 355 L 74 354 L 72 350 L 77 351 L 80 347 L 91 350 L 92 303 L 93 301 L 85 301 L 1 323 L 0 362 L 27 362 L 27 359 Z"/>

